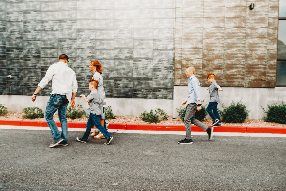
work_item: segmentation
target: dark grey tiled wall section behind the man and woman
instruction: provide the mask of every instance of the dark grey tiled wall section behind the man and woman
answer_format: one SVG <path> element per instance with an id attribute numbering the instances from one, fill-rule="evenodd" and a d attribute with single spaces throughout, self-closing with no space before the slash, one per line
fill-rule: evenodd
<path id="1" fill-rule="evenodd" d="M 98 59 L 107 97 L 172 99 L 174 14 L 174 0 L 1 1 L 0 95 L 31 95 L 67 54 L 78 94 Z M 40 95 L 50 92 L 51 83 Z"/>

